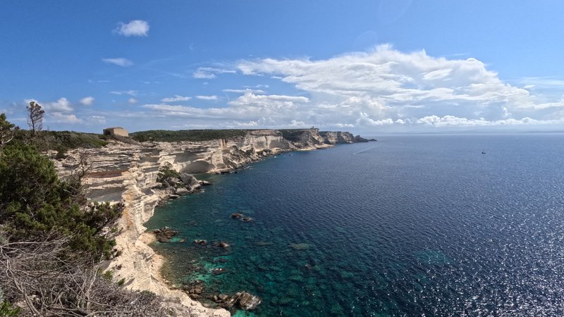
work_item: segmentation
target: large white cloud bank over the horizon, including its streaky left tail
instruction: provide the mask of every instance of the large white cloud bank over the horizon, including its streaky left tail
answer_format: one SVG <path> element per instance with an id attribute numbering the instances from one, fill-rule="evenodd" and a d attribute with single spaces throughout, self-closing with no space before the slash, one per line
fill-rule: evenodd
<path id="1" fill-rule="evenodd" d="M 120 113 L 124 120 L 161 120 L 176 128 L 307 128 L 354 132 L 403 128 L 479 128 L 561 125 L 564 99 L 534 94 L 541 80 L 522 87 L 500 79 L 475 58 L 449 59 L 425 51 L 402 52 L 391 46 L 332 58 L 243 60 L 244 76 L 281 81 L 284 94 L 266 94 L 261 87 L 223 89 L 226 104 L 212 108 L 171 104 L 190 97 L 176 95 L 162 104 L 143 104 L 142 111 Z M 198 68 L 196 78 L 235 73 L 223 68 Z M 556 87 L 558 79 L 544 80 Z M 288 92 L 288 85 L 295 87 Z M 253 89 L 253 87 L 255 89 Z M 278 87 L 276 85 L 275 87 Z M 534 88 L 534 89 L 533 89 Z M 269 87 L 269 90 L 273 90 Z M 137 92 L 112 94 L 137 96 Z M 233 94 L 235 98 L 233 98 Z M 216 100 L 215 96 L 197 99 Z M 219 98 L 217 98 L 219 99 Z M 155 127 L 156 128 L 156 127 Z"/>

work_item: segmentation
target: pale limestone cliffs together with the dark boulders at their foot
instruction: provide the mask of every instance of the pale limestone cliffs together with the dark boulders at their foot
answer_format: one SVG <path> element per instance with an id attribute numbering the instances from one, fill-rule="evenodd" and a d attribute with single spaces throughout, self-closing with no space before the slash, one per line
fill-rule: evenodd
<path id="1" fill-rule="evenodd" d="M 338 143 L 367 142 L 348 132 L 304 130 L 251 130 L 242 137 L 202 142 L 118 142 L 101 149 L 75 149 L 65 159 L 55 161 L 59 174 L 65 177 L 77 166 L 80 156 L 87 155 L 92 167 L 82 179 L 87 197 L 94 201 L 123 202 L 125 211 L 120 220 L 121 233 L 116 249 L 121 254 L 106 263 L 114 279 L 124 280 L 131 290 L 145 290 L 164 297 L 176 298 L 194 316 L 230 316 L 233 306 L 253 309 L 260 299 L 240 292 L 219 294 L 212 299 L 226 309 L 211 309 L 197 299 L 198 287 L 171 285 L 160 274 L 164 259 L 149 244 L 166 242 L 174 230 L 163 228 L 146 232 L 144 223 L 152 217 L 162 201 L 202 190 L 209 185 L 197 180 L 196 173 L 230 173 L 248 163 L 281 151 L 312 150 Z M 192 285 L 194 286 L 194 285 Z M 189 294 L 192 295 L 190 298 Z"/>

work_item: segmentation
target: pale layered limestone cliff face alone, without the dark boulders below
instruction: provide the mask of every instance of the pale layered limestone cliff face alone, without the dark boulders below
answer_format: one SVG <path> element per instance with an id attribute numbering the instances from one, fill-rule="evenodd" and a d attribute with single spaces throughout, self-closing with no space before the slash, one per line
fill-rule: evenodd
<path id="1" fill-rule="evenodd" d="M 263 130 L 243 139 L 209 142 L 111 142 L 103 149 L 70 151 L 71 161 L 56 162 L 56 166 L 64 177 L 69 173 L 72 160 L 78 159 L 80 152 L 87 151 L 92 159 L 92 172 L 85 178 L 89 199 L 125 203 L 123 216 L 119 220 L 122 231 L 116 237 L 116 251 L 121 255 L 104 263 L 104 271 L 113 271 L 114 280 L 123 279 L 124 287 L 130 290 L 153 292 L 180 303 L 194 316 L 231 316 L 226 309 L 212 309 L 191 299 L 161 275 L 166 259 L 150 247 L 155 237 L 152 232 L 146 232 L 144 224 L 153 216 L 159 202 L 171 199 L 174 194 L 174 189 L 163 189 L 157 182 L 162 166 L 189 171 L 195 170 L 195 166 L 206 166 L 208 169 L 205 173 L 228 173 L 281 152 L 326 149 L 334 144 L 317 139 L 318 142 L 314 143 L 289 142 L 283 139 L 280 132 L 275 132 Z"/>

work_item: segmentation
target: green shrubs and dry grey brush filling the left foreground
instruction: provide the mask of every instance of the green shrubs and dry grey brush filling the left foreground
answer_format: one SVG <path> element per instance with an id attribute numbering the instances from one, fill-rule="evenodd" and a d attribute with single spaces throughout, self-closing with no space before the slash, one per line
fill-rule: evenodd
<path id="1" fill-rule="evenodd" d="M 58 177 L 39 151 L 49 135 L 42 108 L 30 108 L 27 131 L 0 115 L 0 316 L 168 315 L 161 297 L 123 290 L 100 274 L 102 260 L 118 256 L 123 204 L 85 199 L 87 166 Z M 77 144 L 72 137 L 62 143 Z"/>

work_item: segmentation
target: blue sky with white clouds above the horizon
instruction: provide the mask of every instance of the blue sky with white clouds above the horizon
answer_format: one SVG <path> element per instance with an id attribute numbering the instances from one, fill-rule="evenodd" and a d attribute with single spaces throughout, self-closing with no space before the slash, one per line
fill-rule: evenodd
<path id="1" fill-rule="evenodd" d="M 564 1 L 1 1 L 0 113 L 102 132 L 564 130 Z"/>

